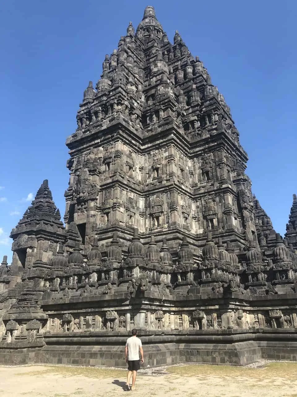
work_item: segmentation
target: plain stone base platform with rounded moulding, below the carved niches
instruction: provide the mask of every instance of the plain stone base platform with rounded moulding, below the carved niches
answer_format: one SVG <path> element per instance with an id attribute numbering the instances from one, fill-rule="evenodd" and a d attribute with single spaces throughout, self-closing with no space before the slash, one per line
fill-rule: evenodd
<path id="1" fill-rule="evenodd" d="M 258 332 L 200 331 L 190 335 L 141 335 L 145 367 L 180 362 L 247 365 L 261 358 L 297 361 L 295 330 Z M 129 335 L 51 334 L 44 347 L 0 348 L 0 364 L 68 364 L 126 368 L 124 345 Z"/>

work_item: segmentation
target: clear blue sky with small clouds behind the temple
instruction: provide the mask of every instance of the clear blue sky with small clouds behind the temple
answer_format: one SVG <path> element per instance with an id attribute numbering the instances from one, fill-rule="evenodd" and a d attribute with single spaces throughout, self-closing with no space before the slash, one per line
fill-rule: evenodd
<path id="1" fill-rule="evenodd" d="M 181 33 L 225 96 L 249 156 L 253 193 L 285 233 L 296 184 L 297 2 L 28 0 L 2 2 L 0 256 L 43 179 L 65 210 L 65 140 L 89 80 L 102 73 L 145 6 L 173 41 Z"/>

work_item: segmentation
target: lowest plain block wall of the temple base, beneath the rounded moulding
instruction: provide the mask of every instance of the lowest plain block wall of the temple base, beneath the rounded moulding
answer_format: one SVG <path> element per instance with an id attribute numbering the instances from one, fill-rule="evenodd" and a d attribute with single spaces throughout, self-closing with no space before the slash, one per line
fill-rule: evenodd
<path id="1" fill-rule="evenodd" d="M 127 335 L 128 336 L 128 335 Z M 297 343 L 286 338 L 282 342 L 247 340 L 234 343 L 174 343 L 144 344 L 145 367 L 185 363 L 247 365 L 264 359 L 296 360 Z M 234 338 L 235 339 L 235 338 Z M 119 345 L 47 345 L 40 348 L 1 349 L 0 363 L 21 364 L 67 364 L 84 366 L 116 366 L 126 368 L 124 341 Z"/>

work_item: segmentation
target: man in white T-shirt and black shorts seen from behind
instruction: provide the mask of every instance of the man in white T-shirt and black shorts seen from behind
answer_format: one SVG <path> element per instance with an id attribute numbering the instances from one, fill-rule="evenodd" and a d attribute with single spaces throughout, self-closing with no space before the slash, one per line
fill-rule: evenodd
<path id="1" fill-rule="evenodd" d="M 127 375 L 127 383 L 126 390 L 130 390 L 130 378 L 132 375 L 132 386 L 131 390 L 135 390 L 135 380 L 137 371 L 140 369 L 140 359 L 139 359 L 139 351 L 141 354 L 141 364 L 143 364 L 143 349 L 142 343 L 139 338 L 137 338 L 137 330 L 133 328 L 132 336 L 127 339 L 125 346 L 125 358 L 126 362 L 128 362 L 128 375 Z"/>

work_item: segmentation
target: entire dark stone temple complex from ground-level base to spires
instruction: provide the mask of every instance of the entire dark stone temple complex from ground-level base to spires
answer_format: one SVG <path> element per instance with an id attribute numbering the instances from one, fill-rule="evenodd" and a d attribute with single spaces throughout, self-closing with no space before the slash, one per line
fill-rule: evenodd
<path id="1" fill-rule="evenodd" d="M 45 180 L 0 266 L 0 363 L 297 360 L 297 198 L 285 238 L 251 192 L 207 69 L 145 9 L 67 139 L 65 225 Z"/>

